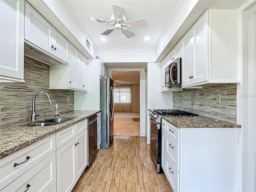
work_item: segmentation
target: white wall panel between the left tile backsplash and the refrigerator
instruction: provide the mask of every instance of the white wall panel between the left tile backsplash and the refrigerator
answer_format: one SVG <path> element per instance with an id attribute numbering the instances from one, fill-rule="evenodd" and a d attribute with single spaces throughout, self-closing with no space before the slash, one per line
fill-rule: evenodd
<path id="1" fill-rule="evenodd" d="M 89 59 L 88 63 L 88 92 L 74 93 L 74 110 L 100 109 L 100 59 Z"/>

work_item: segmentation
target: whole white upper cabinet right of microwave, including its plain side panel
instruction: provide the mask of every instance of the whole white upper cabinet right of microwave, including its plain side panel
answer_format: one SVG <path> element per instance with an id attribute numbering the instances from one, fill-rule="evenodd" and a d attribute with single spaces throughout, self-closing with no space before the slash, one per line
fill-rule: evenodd
<path id="1" fill-rule="evenodd" d="M 181 40 L 182 88 L 239 83 L 236 10 L 207 10 Z"/>

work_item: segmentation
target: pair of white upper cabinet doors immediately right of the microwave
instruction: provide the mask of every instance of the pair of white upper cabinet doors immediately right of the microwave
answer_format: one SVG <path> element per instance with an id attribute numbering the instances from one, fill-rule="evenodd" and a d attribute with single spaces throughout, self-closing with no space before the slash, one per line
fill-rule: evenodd
<path id="1" fill-rule="evenodd" d="M 182 38 L 182 86 L 208 80 L 208 11 Z"/>

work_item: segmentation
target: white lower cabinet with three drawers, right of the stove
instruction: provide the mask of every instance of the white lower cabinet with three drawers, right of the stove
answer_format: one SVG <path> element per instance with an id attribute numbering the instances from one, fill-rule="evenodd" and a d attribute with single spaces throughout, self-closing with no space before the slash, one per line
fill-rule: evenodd
<path id="1" fill-rule="evenodd" d="M 162 166 L 174 192 L 238 190 L 240 128 L 176 128 L 169 122 L 165 126 Z"/>

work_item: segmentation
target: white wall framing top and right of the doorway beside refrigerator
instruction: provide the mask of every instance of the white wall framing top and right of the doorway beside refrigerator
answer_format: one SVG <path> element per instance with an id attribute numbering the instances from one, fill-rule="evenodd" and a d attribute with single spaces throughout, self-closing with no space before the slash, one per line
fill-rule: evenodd
<path id="1" fill-rule="evenodd" d="M 108 69 L 108 77 L 112 78 L 112 72 L 128 72 L 139 71 L 140 72 L 140 136 L 146 136 L 146 82 L 145 82 L 145 70 L 144 69 Z"/>

